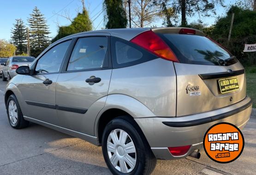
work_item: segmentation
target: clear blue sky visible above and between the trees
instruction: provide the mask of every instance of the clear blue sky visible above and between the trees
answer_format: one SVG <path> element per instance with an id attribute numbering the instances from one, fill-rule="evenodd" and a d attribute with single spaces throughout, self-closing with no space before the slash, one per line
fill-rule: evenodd
<path id="1" fill-rule="evenodd" d="M 225 0 L 225 4 L 229 5 L 234 0 Z M 93 29 L 101 29 L 105 27 L 104 12 L 102 11 L 103 0 L 85 0 L 86 7 L 89 8 L 89 17 L 93 22 Z M 29 14 L 33 8 L 37 8 L 44 14 L 47 19 L 50 37 L 54 37 L 58 31 L 58 24 L 60 26 L 69 25 L 70 22 L 60 15 L 69 13 L 71 18 L 76 17 L 77 11 L 82 10 L 81 0 L 0 0 L 0 39 L 10 40 L 11 29 L 15 19 L 21 18 L 27 25 Z M 217 6 L 217 16 L 224 15 L 226 8 Z M 214 23 L 217 17 L 202 18 L 202 21 L 207 25 Z M 197 21 L 198 16 L 191 17 L 188 22 Z M 162 22 L 154 23 L 157 27 L 162 26 Z"/>

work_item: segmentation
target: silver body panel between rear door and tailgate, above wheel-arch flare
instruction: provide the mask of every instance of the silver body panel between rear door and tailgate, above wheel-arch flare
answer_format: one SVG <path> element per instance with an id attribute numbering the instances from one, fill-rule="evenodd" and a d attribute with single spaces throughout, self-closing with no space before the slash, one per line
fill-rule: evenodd
<path id="1" fill-rule="evenodd" d="M 130 67 L 113 69 L 108 95 L 130 96 L 155 116 L 176 115 L 176 74 L 173 62 L 157 58 Z M 130 105 L 136 104 L 132 103 Z M 153 117 L 140 116 L 139 117 Z"/>

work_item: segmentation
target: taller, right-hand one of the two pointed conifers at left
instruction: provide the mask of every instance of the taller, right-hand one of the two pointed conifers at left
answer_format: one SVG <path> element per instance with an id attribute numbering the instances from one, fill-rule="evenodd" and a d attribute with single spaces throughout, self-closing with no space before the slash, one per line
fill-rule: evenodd
<path id="1" fill-rule="evenodd" d="M 38 56 L 50 44 L 49 28 L 44 15 L 35 7 L 28 19 L 30 26 L 30 52 L 31 56 Z"/>

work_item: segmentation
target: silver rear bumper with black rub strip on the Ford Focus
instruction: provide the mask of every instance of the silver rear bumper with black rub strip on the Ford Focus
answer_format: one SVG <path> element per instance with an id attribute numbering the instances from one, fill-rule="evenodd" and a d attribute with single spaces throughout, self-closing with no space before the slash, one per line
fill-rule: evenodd
<path id="1" fill-rule="evenodd" d="M 135 119 L 142 129 L 155 157 L 158 159 L 185 158 L 195 150 L 202 150 L 205 132 L 216 123 L 227 122 L 243 129 L 250 119 L 252 102 L 250 97 L 228 107 L 184 117 L 138 118 Z M 191 145 L 182 156 L 173 156 L 168 147 Z"/>

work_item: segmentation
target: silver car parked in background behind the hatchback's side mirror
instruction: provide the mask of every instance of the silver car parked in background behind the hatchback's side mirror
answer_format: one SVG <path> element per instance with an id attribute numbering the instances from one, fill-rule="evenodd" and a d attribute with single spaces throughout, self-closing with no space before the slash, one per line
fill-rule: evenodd
<path id="1" fill-rule="evenodd" d="M 17 75 L 16 69 L 19 66 L 30 66 L 30 64 L 35 60 L 36 58 L 33 56 L 12 56 L 8 58 L 8 60 L 5 63 L 1 63 L 1 66 L 3 66 L 1 70 L 2 74 L 2 80 L 10 80 L 14 76 Z"/>

